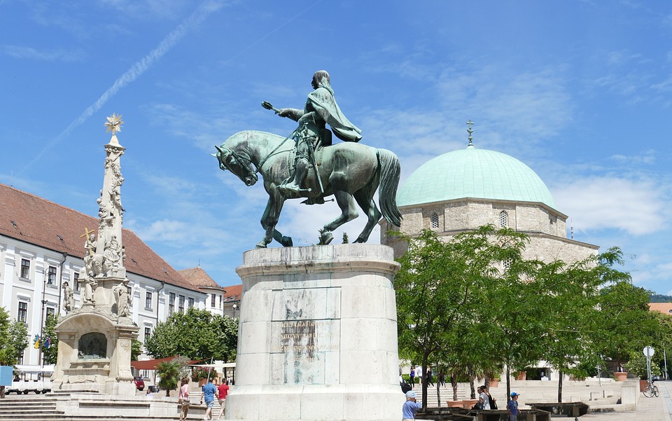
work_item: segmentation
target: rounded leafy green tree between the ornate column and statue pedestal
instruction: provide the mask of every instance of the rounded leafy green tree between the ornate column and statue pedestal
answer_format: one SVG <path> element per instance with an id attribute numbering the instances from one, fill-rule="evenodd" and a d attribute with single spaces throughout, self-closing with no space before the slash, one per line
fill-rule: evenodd
<path id="1" fill-rule="evenodd" d="M 190 308 L 159 323 L 145 348 L 155 358 L 183 355 L 190 359 L 235 359 L 238 325 L 228 316 Z"/>

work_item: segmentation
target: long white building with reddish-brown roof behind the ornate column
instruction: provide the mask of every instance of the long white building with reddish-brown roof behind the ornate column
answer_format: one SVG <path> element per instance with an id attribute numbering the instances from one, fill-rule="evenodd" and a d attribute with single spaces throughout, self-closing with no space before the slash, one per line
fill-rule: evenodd
<path id="1" fill-rule="evenodd" d="M 84 266 L 84 237 L 98 219 L 30 193 L 0 184 L 0 305 L 27 325 L 29 345 L 19 364 L 41 364 L 34 338 L 45 318 L 64 315 L 63 288 L 81 305 L 78 274 Z M 137 235 L 123 230 L 125 267 L 130 280 L 132 320 L 144 343 L 173 312 L 207 308 L 209 294 L 195 287 L 155 254 Z"/>

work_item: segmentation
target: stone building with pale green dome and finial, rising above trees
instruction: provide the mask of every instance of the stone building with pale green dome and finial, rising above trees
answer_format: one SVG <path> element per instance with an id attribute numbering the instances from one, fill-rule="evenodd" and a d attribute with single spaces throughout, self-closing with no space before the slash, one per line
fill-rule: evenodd
<path id="1" fill-rule="evenodd" d="M 504 153 L 477 149 L 472 128 L 467 131 L 466 149 L 429 160 L 399 188 L 400 232 L 414 236 L 431 229 L 450 236 L 491 223 L 529 235 L 525 258 L 570 262 L 597 253 L 598 246 L 567 237 L 567 215 L 557 209 L 547 186 L 530 167 Z M 381 244 L 400 256 L 405 244 L 388 236 L 390 229 L 384 222 Z"/>

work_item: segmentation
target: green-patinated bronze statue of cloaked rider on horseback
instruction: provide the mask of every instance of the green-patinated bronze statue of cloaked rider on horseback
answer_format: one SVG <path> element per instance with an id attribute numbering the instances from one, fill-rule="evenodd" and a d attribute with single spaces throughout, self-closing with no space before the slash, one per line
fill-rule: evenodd
<path id="1" fill-rule="evenodd" d="M 272 240 L 285 247 L 293 245 L 291 237 L 275 228 L 287 199 L 305 198 L 304 203 L 315 205 L 334 195 L 341 214 L 320 230 L 320 244 L 329 244 L 333 230 L 358 216 L 355 201 L 367 216 L 355 242 L 366 242 L 381 216 L 394 226 L 401 224 L 396 205 L 401 172 L 397 156 L 357 143 L 362 138 L 361 130 L 336 104 L 326 71 L 317 71 L 311 85 L 314 91 L 302 110 L 276 109 L 269 102 L 262 103 L 265 109 L 299 123 L 289 137 L 248 130 L 215 146 L 217 153 L 213 156 L 221 170 L 229 170 L 247 186 L 258 181 L 257 174 L 264 179 L 268 202 L 261 225 L 266 233 L 257 247 L 267 247 Z M 332 145 L 332 132 L 345 142 Z M 380 210 L 373 200 L 379 187 Z"/>

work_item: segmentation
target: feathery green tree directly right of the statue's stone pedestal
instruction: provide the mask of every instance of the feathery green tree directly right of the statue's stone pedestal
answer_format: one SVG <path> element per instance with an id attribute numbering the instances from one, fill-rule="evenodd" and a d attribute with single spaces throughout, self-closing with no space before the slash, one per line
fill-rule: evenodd
<path id="1" fill-rule="evenodd" d="M 520 255 L 526 235 L 483 226 L 446 239 L 431 230 L 402 238 L 407 252 L 394 281 L 400 355 L 419 361 L 423 373 L 436 361 L 459 364 L 454 373 L 472 378 L 491 368 L 477 310 L 484 305 L 483 291 L 498 279 L 498 266 Z M 426 407 L 427 376 L 422 380 Z"/>

